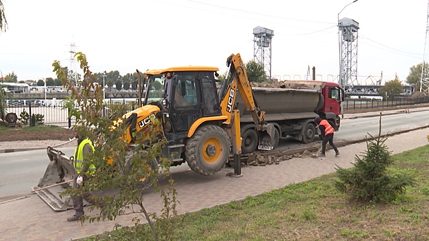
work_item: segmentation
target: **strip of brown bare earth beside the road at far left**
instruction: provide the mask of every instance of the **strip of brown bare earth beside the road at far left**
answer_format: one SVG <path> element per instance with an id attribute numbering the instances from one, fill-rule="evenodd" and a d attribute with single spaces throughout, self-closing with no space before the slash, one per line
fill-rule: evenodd
<path id="1" fill-rule="evenodd" d="M 73 132 L 65 128 L 37 131 L 10 129 L 8 132 L 2 132 L 0 134 L 0 142 L 19 140 L 69 140 L 71 138 L 73 138 Z"/>

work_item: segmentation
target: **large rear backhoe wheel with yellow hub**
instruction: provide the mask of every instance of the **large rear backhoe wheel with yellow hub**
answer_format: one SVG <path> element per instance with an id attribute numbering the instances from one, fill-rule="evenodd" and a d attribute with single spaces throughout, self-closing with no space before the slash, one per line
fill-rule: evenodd
<path id="1" fill-rule="evenodd" d="M 203 125 L 186 144 L 186 161 L 192 171 L 212 175 L 222 169 L 230 155 L 230 139 L 217 125 Z"/>

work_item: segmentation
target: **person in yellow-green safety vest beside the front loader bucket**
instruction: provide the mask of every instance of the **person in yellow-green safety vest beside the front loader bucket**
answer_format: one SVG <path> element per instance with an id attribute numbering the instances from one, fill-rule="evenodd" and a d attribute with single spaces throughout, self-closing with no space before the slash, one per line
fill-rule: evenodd
<path id="1" fill-rule="evenodd" d="M 80 187 L 84 185 L 84 182 L 88 180 L 95 172 L 95 166 L 91 161 L 85 161 L 85 158 L 94 152 L 94 146 L 90 139 L 79 134 L 77 127 L 74 127 L 73 132 L 74 138 L 77 138 L 77 147 L 74 151 L 73 165 L 76 169 L 77 176 L 74 178 L 74 187 Z M 77 221 L 85 213 L 83 211 L 83 198 L 88 199 L 89 194 L 83 193 L 81 197 L 72 196 L 74 215 L 67 218 L 69 222 Z"/>

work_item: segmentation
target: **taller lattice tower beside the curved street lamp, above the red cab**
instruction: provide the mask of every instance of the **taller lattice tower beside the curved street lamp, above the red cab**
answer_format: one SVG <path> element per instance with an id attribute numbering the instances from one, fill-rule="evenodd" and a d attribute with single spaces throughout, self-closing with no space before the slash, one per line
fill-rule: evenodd
<path id="1" fill-rule="evenodd" d="M 339 29 L 339 85 L 345 89 L 359 85 L 357 81 L 357 30 L 359 23 L 343 18 Z"/>

